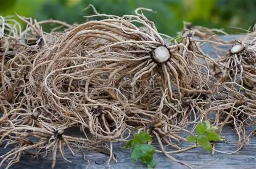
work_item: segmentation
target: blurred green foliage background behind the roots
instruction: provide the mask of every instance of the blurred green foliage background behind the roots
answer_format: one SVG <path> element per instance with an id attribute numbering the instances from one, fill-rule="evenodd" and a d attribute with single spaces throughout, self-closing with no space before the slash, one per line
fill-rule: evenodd
<path id="1" fill-rule="evenodd" d="M 170 36 L 176 36 L 183 28 L 183 21 L 223 28 L 229 34 L 245 33 L 230 26 L 248 30 L 256 22 L 254 0 L 2 0 L 0 15 L 13 15 L 16 12 L 37 20 L 52 18 L 81 23 L 86 21 L 82 16 L 93 13 L 92 9 L 83 10 L 89 4 L 94 5 L 99 13 L 118 16 L 134 14 L 137 7 L 151 8 L 157 13 L 144 14 L 155 22 L 159 32 Z"/>

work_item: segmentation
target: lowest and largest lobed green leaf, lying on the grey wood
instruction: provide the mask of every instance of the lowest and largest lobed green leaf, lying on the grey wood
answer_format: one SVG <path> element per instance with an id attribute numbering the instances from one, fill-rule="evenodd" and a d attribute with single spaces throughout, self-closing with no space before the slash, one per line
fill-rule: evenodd
<path id="1" fill-rule="evenodd" d="M 134 161 L 137 161 L 139 158 L 142 162 L 149 164 L 153 160 L 155 151 L 156 149 L 151 145 L 136 145 L 131 157 Z"/>

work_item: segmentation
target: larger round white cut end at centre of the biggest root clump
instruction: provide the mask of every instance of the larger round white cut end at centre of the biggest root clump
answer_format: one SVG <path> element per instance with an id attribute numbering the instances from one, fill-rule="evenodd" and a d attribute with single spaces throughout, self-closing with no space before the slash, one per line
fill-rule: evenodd
<path id="1" fill-rule="evenodd" d="M 154 51 L 153 58 L 157 63 L 164 63 L 170 58 L 169 50 L 164 46 L 157 47 Z"/>

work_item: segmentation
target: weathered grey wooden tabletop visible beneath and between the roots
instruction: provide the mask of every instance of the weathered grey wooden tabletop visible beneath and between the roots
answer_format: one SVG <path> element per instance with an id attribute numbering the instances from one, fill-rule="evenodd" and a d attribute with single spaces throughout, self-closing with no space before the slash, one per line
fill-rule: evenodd
<path id="1" fill-rule="evenodd" d="M 233 39 L 238 38 L 237 36 L 223 37 L 224 39 Z M 212 50 L 209 46 L 204 47 L 204 51 L 208 54 L 212 54 Z M 1 116 L 1 115 L 0 115 Z M 70 133 L 74 135 L 79 135 L 78 130 L 70 130 Z M 231 127 L 225 127 L 222 135 L 226 137 L 228 143 L 217 143 L 216 149 L 224 152 L 232 152 L 237 148 L 237 135 Z M 188 147 L 189 143 L 184 143 L 182 147 Z M 118 163 L 111 161 L 111 168 L 146 168 L 141 162 L 134 162 L 130 158 L 131 151 L 124 150 L 122 147 L 124 144 L 116 143 L 114 144 L 114 153 L 116 155 Z M 154 145 L 157 150 L 159 150 L 158 145 Z M 234 154 L 223 154 L 216 152 L 214 156 L 211 156 L 210 152 L 204 151 L 202 148 L 195 148 L 184 153 L 173 154 L 178 160 L 184 161 L 189 164 L 196 166 L 203 166 L 209 162 L 214 161 L 208 166 L 202 168 L 256 168 L 256 137 L 251 138 L 249 145 L 244 146 L 239 152 Z M 0 147 L 0 155 L 3 155 L 5 152 L 10 151 L 10 148 L 4 149 Z M 76 152 L 75 156 L 72 156 L 69 151 L 66 151 L 67 159 L 73 161 L 69 163 L 62 159 L 60 154 L 57 155 L 57 162 L 55 165 L 56 169 L 62 168 L 108 168 L 108 159 L 107 155 L 98 153 L 98 152 L 84 152 L 85 157 L 81 152 Z M 169 160 L 162 153 L 155 153 L 154 159 L 157 162 L 156 168 L 187 168 L 186 166 Z M 10 168 L 51 168 L 52 160 L 51 155 L 45 158 L 32 158 L 29 154 L 24 154 L 20 158 L 20 161 Z M 4 168 L 4 167 L 2 167 Z M 2 169 L 1 168 L 1 169 Z"/>

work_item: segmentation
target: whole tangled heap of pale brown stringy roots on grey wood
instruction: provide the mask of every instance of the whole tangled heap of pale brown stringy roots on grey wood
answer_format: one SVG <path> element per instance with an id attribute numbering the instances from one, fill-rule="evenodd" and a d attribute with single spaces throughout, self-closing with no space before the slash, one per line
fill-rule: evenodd
<path id="1" fill-rule="evenodd" d="M 52 153 L 54 167 L 58 149 L 69 161 L 64 147 L 73 153 L 103 146 L 116 161 L 113 142 L 142 130 L 181 162 L 170 154 L 196 147 L 182 149 L 181 133 L 191 134 L 208 119 L 219 132 L 232 125 L 239 149 L 249 143 L 255 130 L 245 131 L 255 128 L 256 116 L 255 33 L 225 42 L 215 36 L 222 31 L 185 23 L 182 41 L 169 43 L 173 38 L 159 33 L 141 10 L 151 11 L 96 14 L 87 18 L 103 18 L 79 25 L 18 16 L 27 24 L 24 31 L 1 17 L 0 144 L 14 149 L 0 157 L 0 166 L 7 162 L 8 168 L 28 152 Z M 42 31 L 48 23 L 58 24 L 51 33 Z M 58 32 L 59 25 L 65 30 Z M 202 51 L 205 43 L 218 59 Z M 232 47 L 220 55 L 227 45 Z M 65 134 L 73 127 L 81 137 Z"/>

